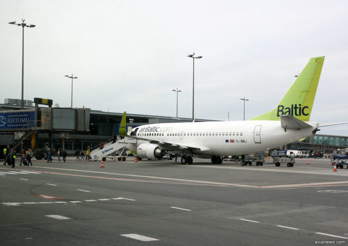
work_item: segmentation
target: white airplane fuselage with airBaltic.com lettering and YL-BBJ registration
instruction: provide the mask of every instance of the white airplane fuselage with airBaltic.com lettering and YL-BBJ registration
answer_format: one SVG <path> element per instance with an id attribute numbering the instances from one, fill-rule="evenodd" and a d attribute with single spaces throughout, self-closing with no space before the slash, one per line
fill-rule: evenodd
<path id="1" fill-rule="evenodd" d="M 276 148 L 310 136 L 318 123 L 306 123 L 312 127 L 285 130 L 280 121 L 268 120 L 160 123 L 136 127 L 132 134 L 153 140 L 154 144 L 171 153 L 240 155 Z M 138 145 L 146 142 L 136 140 L 127 148 L 136 151 Z M 196 149 L 192 151 L 192 148 Z"/>

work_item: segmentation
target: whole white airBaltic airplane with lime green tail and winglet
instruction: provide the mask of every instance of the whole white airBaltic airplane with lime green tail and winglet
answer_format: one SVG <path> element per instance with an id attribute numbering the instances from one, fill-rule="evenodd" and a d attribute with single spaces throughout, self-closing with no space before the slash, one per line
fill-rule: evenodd
<path id="1" fill-rule="evenodd" d="M 319 131 L 320 125 L 309 117 L 323 62 L 324 57 L 309 59 L 280 103 L 247 121 L 158 123 L 127 131 L 124 112 L 119 135 L 140 158 L 180 154 L 181 164 L 192 164 L 192 155 L 221 164 L 221 156 L 261 152 L 303 139 Z"/>

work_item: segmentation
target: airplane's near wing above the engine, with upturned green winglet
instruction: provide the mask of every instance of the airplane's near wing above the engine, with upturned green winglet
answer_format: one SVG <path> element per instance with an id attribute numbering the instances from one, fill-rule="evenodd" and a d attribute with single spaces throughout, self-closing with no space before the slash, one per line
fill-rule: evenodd
<path id="1" fill-rule="evenodd" d="M 121 124 L 119 126 L 119 131 L 118 131 L 118 134 L 122 137 L 131 138 L 131 139 L 135 139 L 135 140 L 142 140 L 142 141 L 146 141 L 146 142 L 149 142 L 152 144 L 157 144 L 158 146 L 161 147 L 161 149 L 167 150 L 167 151 L 187 150 L 187 151 L 190 151 L 192 153 L 209 153 L 209 152 L 211 152 L 211 150 L 205 146 L 192 146 L 192 145 L 180 144 L 180 143 L 175 143 L 175 142 L 157 141 L 157 140 L 143 138 L 143 137 L 131 136 L 131 135 L 127 134 L 125 126 L 126 126 L 126 112 L 123 112 Z"/>

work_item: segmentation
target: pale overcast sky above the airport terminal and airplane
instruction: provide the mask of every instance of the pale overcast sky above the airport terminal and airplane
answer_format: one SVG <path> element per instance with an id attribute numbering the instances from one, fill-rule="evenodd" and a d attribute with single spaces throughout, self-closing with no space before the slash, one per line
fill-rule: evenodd
<path id="1" fill-rule="evenodd" d="M 348 121 L 348 2 L 0 0 L 0 102 L 242 120 L 272 110 L 307 64 L 325 56 L 310 120 Z M 348 124 L 318 134 L 348 136 Z"/>

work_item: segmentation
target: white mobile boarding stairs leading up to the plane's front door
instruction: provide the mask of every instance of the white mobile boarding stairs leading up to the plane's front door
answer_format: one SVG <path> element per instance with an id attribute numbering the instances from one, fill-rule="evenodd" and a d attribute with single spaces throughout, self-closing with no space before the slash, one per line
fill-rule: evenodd
<path id="1" fill-rule="evenodd" d="M 120 137 L 118 136 L 118 139 Z M 127 144 L 124 139 L 120 139 L 119 141 L 116 141 L 115 143 L 112 143 L 113 139 L 109 139 L 104 142 L 104 147 L 101 148 L 101 144 L 94 146 L 90 151 L 90 160 L 102 160 L 103 157 L 105 157 L 103 160 L 106 159 L 106 157 L 111 156 L 112 154 L 118 154 L 119 156 L 122 155 L 125 145 Z"/>

